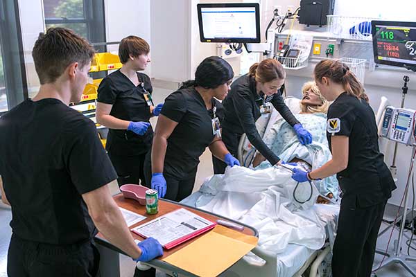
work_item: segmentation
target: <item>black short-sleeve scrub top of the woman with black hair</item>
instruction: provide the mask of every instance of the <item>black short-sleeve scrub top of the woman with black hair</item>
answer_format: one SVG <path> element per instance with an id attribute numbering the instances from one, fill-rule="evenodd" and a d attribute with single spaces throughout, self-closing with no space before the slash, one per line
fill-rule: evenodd
<path id="1" fill-rule="evenodd" d="M 171 93 L 164 102 L 161 114 L 177 122 L 168 138 L 164 173 L 186 179 L 199 163 L 200 155 L 214 140 L 212 110 L 194 87 Z"/>

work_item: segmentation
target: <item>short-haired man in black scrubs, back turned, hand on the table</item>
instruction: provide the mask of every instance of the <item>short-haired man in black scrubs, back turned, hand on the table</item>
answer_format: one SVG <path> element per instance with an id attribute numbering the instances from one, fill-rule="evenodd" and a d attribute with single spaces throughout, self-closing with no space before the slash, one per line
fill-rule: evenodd
<path id="1" fill-rule="evenodd" d="M 98 231 L 135 260 L 162 255 L 153 238 L 135 244 L 110 195 L 117 175 L 96 127 L 68 107 L 80 101 L 94 48 L 50 28 L 32 55 L 39 92 L 0 118 L 0 189 L 12 207 L 8 276 L 97 276 Z"/>

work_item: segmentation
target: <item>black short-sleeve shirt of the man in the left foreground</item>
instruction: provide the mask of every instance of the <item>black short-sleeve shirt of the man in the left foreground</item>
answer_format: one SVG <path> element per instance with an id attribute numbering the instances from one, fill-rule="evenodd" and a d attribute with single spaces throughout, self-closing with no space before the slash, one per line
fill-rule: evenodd
<path id="1" fill-rule="evenodd" d="M 25 100 L 0 118 L 0 153 L 15 235 L 49 244 L 96 235 L 81 195 L 117 175 L 92 120 L 57 99 Z"/>

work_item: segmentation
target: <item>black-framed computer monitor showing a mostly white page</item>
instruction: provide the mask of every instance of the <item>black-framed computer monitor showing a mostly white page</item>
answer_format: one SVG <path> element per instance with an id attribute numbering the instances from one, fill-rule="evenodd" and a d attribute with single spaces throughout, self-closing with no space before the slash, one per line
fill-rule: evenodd
<path id="1" fill-rule="evenodd" d="M 259 3 L 198 4 L 201 42 L 260 42 Z"/>

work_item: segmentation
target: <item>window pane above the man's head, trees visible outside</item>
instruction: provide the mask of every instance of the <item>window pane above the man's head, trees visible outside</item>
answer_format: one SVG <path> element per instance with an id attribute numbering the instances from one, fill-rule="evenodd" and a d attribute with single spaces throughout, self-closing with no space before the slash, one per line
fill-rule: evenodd
<path id="1" fill-rule="evenodd" d="M 105 42 L 103 0 L 43 0 L 46 28 L 72 29 L 89 42 Z"/>

